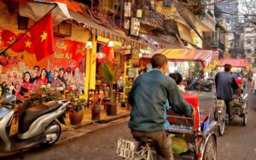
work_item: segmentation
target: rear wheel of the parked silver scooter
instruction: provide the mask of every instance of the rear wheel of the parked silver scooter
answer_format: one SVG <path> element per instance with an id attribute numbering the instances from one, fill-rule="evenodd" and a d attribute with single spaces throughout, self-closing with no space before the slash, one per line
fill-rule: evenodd
<path id="1" fill-rule="evenodd" d="M 49 126 L 45 129 L 45 132 L 50 129 L 55 127 L 55 130 L 53 132 L 48 132 L 45 133 L 45 141 L 42 143 L 42 146 L 52 146 L 55 144 L 56 141 L 59 140 L 60 136 L 61 136 L 61 125 L 57 122 L 53 122 L 51 124 L 49 124 Z M 47 140 L 49 137 L 49 140 Z"/>

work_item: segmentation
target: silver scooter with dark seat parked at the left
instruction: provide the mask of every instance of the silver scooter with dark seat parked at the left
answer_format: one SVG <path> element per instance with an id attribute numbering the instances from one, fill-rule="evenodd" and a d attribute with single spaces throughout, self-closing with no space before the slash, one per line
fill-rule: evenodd
<path id="1" fill-rule="evenodd" d="M 32 146 L 51 146 L 61 136 L 63 113 L 69 100 L 55 100 L 20 112 L 18 133 L 9 135 L 17 100 L 13 94 L 0 98 L 0 152 L 22 151 Z M 58 118 L 60 123 L 55 119 Z"/>

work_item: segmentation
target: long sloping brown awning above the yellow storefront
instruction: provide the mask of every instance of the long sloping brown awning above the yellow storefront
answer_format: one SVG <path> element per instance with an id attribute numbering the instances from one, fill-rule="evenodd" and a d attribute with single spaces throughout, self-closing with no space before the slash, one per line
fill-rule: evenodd
<path id="1" fill-rule="evenodd" d="M 90 20 L 89 14 L 79 14 L 77 12 L 73 12 L 72 10 L 69 11 L 69 14 L 72 16 L 74 21 L 88 28 L 93 34 L 96 34 L 97 36 L 106 37 L 113 41 L 131 45 L 133 48 L 147 48 L 147 44 L 145 43 L 140 43 L 134 39 L 125 37 L 117 31 L 113 31 L 105 26 L 98 25 L 95 21 Z"/>

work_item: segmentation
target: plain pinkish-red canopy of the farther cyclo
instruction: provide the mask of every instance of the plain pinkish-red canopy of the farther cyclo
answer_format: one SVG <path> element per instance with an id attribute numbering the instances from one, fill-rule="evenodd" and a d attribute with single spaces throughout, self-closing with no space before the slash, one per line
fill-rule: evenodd
<path id="1" fill-rule="evenodd" d="M 233 67 L 247 67 L 248 61 L 247 59 L 221 59 L 219 60 L 218 66 L 224 66 L 226 64 L 230 64 Z"/>

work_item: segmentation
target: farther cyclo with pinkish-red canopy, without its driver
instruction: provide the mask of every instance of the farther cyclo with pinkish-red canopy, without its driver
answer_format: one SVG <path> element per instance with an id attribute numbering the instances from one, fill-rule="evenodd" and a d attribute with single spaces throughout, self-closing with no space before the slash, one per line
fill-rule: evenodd
<path id="1" fill-rule="evenodd" d="M 219 66 L 224 66 L 224 64 L 230 64 L 232 67 L 239 69 L 247 68 L 247 59 L 222 59 L 219 61 Z M 234 71 L 233 71 L 234 72 Z M 234 75 L 234 74 L 233 74 Z M 244 89 L 244 81 L 242 77 L 235 76 L 236 83 L 239 89 L 234 90 L 233 100 L 230 104 L 231 113 L 233 118 L 241 117 L 242 125 L 247 124 L 247 98 L 248 94 L 245 94 L 247 89 Z M 215 104 L 213 110 L 214 119 L 218 122 L 218 134 L 224 134 L 225 124 L 229 124 L 230 120 L 226 113 L 226 106 L 224 100 L 217 100 L 215 93 Z M 233 119 L 232 118 L 232 119 Z"/>

